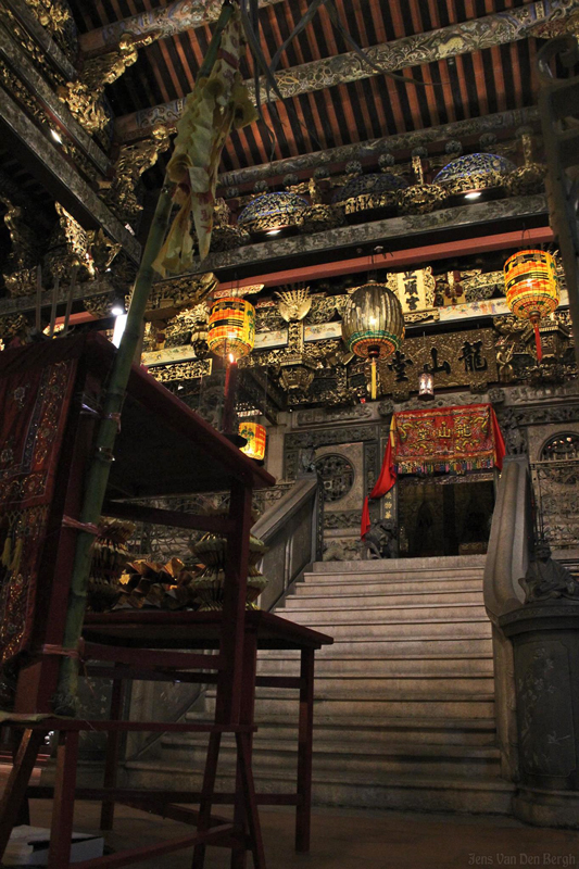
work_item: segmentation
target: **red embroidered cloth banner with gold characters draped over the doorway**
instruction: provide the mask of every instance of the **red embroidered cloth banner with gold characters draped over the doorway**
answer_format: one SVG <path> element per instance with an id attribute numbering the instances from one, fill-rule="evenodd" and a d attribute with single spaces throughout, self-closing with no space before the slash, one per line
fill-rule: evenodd
<path id="1" fill-rule="evenodd" d="M 490 404 L 404 411 L 392 416 L 380 476 L 370 492 L 382 498 L 398 474 L 465 474 L 503 467 L 505 445 Z M 370 527 L 368 499 L 361 534 Z"/>

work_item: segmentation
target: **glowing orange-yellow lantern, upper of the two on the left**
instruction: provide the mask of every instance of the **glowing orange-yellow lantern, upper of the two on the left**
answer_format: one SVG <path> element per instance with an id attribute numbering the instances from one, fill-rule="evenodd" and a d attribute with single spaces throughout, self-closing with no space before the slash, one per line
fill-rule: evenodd
<path id="1" fill-rule="evenodd" d="M 247 356 L 255 341 L 255 308 L 244 299 L 218 299 L 209 315 L 207 344 L 217 356 Z"/>

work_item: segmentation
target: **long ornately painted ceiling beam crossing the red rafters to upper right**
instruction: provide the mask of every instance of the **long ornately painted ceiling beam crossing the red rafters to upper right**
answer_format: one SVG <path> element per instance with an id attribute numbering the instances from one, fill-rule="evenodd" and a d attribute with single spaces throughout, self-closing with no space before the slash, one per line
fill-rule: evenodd
<path id="1" fill-rule="evenodd" d="M 544 26 L 555 16 L 561 20 L 578 8 L 579 0 L 538 0 L 474 21 L 382 42 L 365 49 L 365 52 L 383 72 L 397 72 L 526 39 L 532 36 L 534 28 Z M 350 51 L 280 70 L 275 77 L 282 97 L 289 98 L 375 75 L 374 66 Z M 248 80 L 246 85 L 255 101 L 253 81 Z M 265 102 L 266 93 L 265 79 L 262 79 L 261 101 Z M 174 126 L 184 108 L 185 98 L 180 98 L 124 115 L 116 121 L 116 136 L 121 141 L 128 141 L 144 136 L 158 123 Z"/>

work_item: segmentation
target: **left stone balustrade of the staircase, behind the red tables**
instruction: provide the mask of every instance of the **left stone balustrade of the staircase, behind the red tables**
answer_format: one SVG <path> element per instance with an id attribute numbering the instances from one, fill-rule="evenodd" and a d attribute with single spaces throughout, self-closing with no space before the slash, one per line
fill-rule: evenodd
<path id="1" fill-rule="evenodd" d="M 267 546 L 261 564 L 269 580 L 260 599 L 262 609 L 284 600 L 304 569 L 320 558 L 323 499 L 315 474 L 299 479 L 252 528 Z"/>

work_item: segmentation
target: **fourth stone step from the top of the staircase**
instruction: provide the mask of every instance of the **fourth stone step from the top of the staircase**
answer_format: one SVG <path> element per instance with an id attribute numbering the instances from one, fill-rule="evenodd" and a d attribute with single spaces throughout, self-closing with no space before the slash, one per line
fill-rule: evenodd
<path id="1" fill-rule="evenodd" d="M 348 593 L 353 592 L 353 593 Z M 482 589 L 478 591 L 454 591 L 454 592 L 430 592 L 421 594 L 401 594 L 400 592 L 376 592 L 366 591 L 364 593 L 355 593 L 353 589 L 343 589 L 341 594 L 309 594 L 295 595 L 292 594 L 286 597 L 285 612 L 299 612 L 301 609 L 374 609 L 375 607 L 382 608 L 385 606 L 404 606 L 410 607 L 413 605 L 433 606 L 460 604 L 478 604 L 484 605 L 482 599 Z M 281 610 L 278 610 L 281 612 Z M 288 616 L 289 617 L 289 616 Z M 293 616 L 291 616 L 293 618 Z"/>

